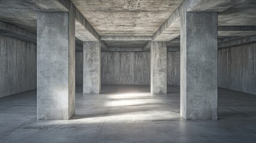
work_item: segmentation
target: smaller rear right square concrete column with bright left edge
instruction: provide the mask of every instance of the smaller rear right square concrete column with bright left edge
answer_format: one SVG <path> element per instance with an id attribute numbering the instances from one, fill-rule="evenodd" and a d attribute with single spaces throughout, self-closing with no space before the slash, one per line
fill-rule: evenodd
<path id="1" fill-rule="evenodd" d="M 152 42 L 150 48 L 150 91 L 152 94 L 167 93 L 166 42 Z"/>

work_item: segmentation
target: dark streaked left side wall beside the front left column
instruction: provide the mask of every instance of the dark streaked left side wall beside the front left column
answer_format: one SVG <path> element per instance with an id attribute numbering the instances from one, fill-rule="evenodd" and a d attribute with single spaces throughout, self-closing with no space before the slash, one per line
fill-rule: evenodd
<path id="1" fill-rule="evenodd" d="M 36 44 L 0 35 L 0 97 L 36 89 Z"/>

